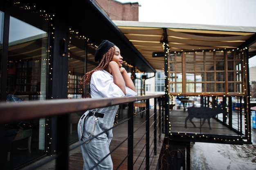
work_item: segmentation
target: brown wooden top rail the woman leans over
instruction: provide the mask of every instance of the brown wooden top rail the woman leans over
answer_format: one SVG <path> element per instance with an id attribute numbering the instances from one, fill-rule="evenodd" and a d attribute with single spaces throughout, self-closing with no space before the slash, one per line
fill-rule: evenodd
<path id="1" fill-rule="evenodd" d="M 112 98 L 52 99 L 18 103 L 0 102 L 0 124 L 56 116 L 63 113 L 113 106 L 162 96 L 163 95 L 145 95 Z"/>

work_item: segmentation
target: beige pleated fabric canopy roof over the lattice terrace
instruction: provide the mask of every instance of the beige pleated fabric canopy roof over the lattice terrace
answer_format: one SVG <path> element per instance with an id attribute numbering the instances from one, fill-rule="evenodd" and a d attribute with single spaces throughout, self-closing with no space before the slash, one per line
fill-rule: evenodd
<path id="1" fill-rule="evenodd" d="M 201 24 L 113 21 L 122 33 L 155 69 L 162 69 L 163 60 L 152 57 L 163 52 L 161 40 L 167 37 L 171 52 L 249 48 L 249 57 L 256 55 L 256 27 Z"/>

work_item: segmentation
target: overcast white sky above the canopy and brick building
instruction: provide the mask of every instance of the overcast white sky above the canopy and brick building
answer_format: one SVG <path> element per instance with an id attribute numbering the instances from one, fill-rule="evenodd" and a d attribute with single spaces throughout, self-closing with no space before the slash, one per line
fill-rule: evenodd
<path id="1" fill-rule="evenodd" d="M 116 0 L 138 2 L 140 22 L 256 27 L 256 0 Z M 256 57 L 249 59 L 256 66 Z"/>

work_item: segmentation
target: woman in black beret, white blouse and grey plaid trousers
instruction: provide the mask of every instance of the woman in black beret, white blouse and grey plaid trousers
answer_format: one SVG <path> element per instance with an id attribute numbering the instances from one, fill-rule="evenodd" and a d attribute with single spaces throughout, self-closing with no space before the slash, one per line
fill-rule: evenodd
<path id="1" fill-rule="evenodd" d="M 91 97 L 136 96 L 137 92 L 126 69 L 122 67 L 120 49 L 108 40 L 101 42 L 95 52 L 95 62 L 99 65 L 85 73 L 81 82 L 90 84 Z M 91 139 L 113 126 L 118 105 L 86 111 L 78 123 L 79 141 L 83 155 L 83 170 L 112 170 L 113 163 L 109 145 L 113 137 L 112 129 Z M 104 159 L 104 157 L 106 157 Z M 101 161 L 103 159 L 103 161 Z M 100 162 L 101 161 L 101 162 Z M 99 165 L 96 166 L 96 164 Z M 94 168 L 95 166 L 95 168 Z"/>

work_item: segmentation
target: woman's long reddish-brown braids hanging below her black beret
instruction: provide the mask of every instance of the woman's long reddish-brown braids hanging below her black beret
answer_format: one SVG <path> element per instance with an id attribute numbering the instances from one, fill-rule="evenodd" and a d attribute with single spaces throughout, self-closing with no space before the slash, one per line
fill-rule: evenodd
<path id="1" fill-rule="evenodd" d="M 101 61 L 99 62 L 99 65 L 96 68 L 94 68 L 92 71 L 89 71 L 89 72 L 85 73 L 85 75 L 80 79 L 80 84 L 83 84 L 83 86 L 85 86 L 86 84 L 89 84 L 92 73 L 94 73 L 94 71 L 99 71 L 99 70 L 102 70 L 102 69 L 106 68 L 106 66 L 108 66 L 108 64 L 112 60 L 113 56 L 115 55 L 115 51 L 116 51 L 115 46 L 112 46 L 103 55 Z"/>

